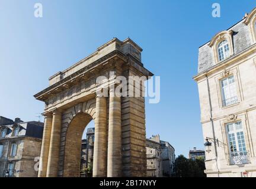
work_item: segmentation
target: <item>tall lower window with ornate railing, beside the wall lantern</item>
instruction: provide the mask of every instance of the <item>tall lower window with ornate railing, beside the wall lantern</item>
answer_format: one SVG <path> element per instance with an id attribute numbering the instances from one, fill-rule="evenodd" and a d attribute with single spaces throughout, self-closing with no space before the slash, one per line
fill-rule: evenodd
<path id="1" fill-rule="evenodd" d="M 245 145 L 245 136 L 242 128 L 242 122 L 228 123 L 226 125 L 228 132 L 228 145 L 231 155 L 231 164 L 248 163 L 247 148 Z"/>

